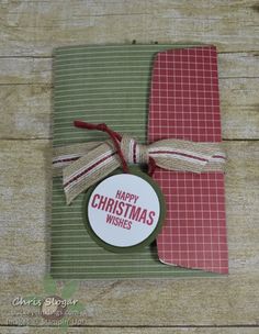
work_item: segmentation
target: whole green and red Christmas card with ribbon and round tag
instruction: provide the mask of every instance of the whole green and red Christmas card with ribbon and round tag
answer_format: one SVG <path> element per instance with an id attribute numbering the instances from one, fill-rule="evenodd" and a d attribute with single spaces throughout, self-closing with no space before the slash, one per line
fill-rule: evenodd
<path id="1" fill-rule="evenodd" d="M 55 49 L 53 129 L 53 277 L 228 272 L 214 46 Z"/>

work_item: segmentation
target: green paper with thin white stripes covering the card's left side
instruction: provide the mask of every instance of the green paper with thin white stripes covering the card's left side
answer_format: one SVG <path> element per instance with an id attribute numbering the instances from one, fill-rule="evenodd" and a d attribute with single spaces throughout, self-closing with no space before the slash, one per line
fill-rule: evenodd
<path id="1" fill-rule="evenodd" d="M 106 140 L 75 129 L 72 121 L 106 123 L 145 142 L 153 59 L 157 52 L 189 45 L 59 47 L 54 53 L 53 145 Z M 53 179 L 50 272 L 58 279 L 207 277 L 214 274 L 161 264 L 156 244 L 131 254 L 98 246 L 82 220 L 80 194 L 66 205 L 61 178 Z"/>

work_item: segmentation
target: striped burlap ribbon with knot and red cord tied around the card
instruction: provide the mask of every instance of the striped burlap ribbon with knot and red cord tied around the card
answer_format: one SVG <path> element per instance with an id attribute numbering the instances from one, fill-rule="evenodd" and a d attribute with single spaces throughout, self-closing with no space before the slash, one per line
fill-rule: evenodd
<path id="1" fill-rule="evenodd" d="M 110 130 L 105 124 L 75 121 L 75 126 L 106 132 L 111 141 L 89 142 L 54 149 L 54 176 L 63 175 L 67 204 L 122 165 L 148 164 L 176 171 L 224 171 L 226 155 L 221 143 L 164 140 L 140 145 L 134 138 Z"/>

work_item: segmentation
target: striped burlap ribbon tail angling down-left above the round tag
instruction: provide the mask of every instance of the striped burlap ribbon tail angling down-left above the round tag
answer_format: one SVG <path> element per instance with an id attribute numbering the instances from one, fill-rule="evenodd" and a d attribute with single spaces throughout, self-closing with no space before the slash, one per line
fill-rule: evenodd
<path id="1" fill-rule="evenodd" d="M 106 177 L 120 165 L 115 149 L 108 143 L 103 143 L 65 167 L 63 185 L 67 204 L 70 204 L 79 193 Z"/>

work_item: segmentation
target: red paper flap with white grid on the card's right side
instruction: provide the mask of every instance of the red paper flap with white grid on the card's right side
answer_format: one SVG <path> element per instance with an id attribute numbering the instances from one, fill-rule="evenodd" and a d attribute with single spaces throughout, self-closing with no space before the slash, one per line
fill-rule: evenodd
<path id="1" fill-rule="evenodd" d="M 221 142 L 217 54 L 214 46 L 158 53 L 154 62 L 148 141 Z M 165 264 L 228 272 L 224 175 L 157 169 L 167 202 L 157 238 Z"/>

